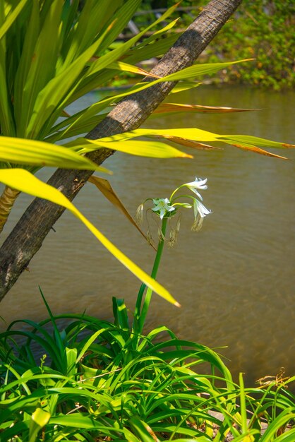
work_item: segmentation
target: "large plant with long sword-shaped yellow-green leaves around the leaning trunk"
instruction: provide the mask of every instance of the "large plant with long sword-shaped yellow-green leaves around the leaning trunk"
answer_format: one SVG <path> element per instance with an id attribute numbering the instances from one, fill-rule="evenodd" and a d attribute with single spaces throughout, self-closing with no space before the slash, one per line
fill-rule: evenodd
<path id="1" fill-rule="evenodd" d="M 92 131 L 107 116 L 109 107 L 123 97 L 167 81 L 182 81 L 171 93 L 194 88 L 200 84 L 196 80 L 201 76 L 232 64 L 193 64 L 164 77 L 138 68 L 138 62 L 160 56 L 179 37 L 173 32 L 177 20 L 167 24 L 176 4 L 138 35 L 117 44 L 118 35 L 140 3 L 140 0 L 85 0 L 81 8 L 78 0 L 0 2 L 0 181 L 5 185 L 0 197 L 0 232 L 20 192 L 62 205 L 79 217 L 140 280 L 175 303 L 167 290 L 121 253 L 61 191 L 34 177 L 35 172 L 44 166 L 108 172 L 87 156 L 102 149 L 155 158 L 191 157 L 172 145 L 155 141 L 155 137 L 195 149 L 213 149 L 215 143 L 222 142 L 277 157 L 263 148 L 290 146 L 253 136 L 218 135 L 196 128 L 136 129 L 100 139 L 83 138 L 83 134 Z M 145 37 L 152 29 L 155 31 Z M 68 114 L 69 104 L 124 72 L 145 78 L 124 92 L 114 92 L 76 114 Z M 245 110 L 248 109 L 165 103 L 152 116 Z M 145 140 L 134 139 L 138 137 Z M 90 181 L 101 189 L 106 180 L 100 180 L 92 177 Z"/>

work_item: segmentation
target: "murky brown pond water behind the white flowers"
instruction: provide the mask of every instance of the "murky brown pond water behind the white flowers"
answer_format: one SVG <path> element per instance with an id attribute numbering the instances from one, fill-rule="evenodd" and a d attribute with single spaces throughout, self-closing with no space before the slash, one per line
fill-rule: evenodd
<path id="1" fill-rule="evenodd" d="M 241 114 L 192 114 L 150 120 L 150 127 L 199 127 L 215 133 L 248 133 L 294 141 L 294 92 L 203 86 L 172 95 L 169 101 L 262 109 Z M 97 92 L 86 100 L 96 100 Z M 293 103 L 292 103 L 293 102 Z M 273 150 L 272 150 L 273 151 Z M 191 153 L 191 151 L 190 151 Z M 167 325 L 179 337 L 196 340 L 229 359 L 248 383 L 295 366 L 294 309 L 294 159 L 295 151 L 277 150 L 277 160 L 226 146 L 195 151 L 193 160 L 152 160 L 117 153 L 104 163 L 130 213 L 148 197 L 167 197 L 195 176 L 208 179 L 204 203 L 212 210 L 200 232 L 191 232 L 193 213 L 181 220 L 178 245 L 164 251 L 159 282 L 181 303 L 176 309 L 154 295 L 147 329 Z M 46 179 L 50 170 L 40 176 Z M 11 213 L 4 237 L 30 197 L 22 196 Z M 76 205 L 146 271 L 153 250 L 143 237 L 91 184 Z M 16 318 L 47 317 L 38 285 L 54 313 L 87 313 L 112 318 L 112 297 L 124 297 L 133 310 L 140 283 L 70 213 L 64 214 L 42 249 L 1 302 L 7 323 Z M 2 325 L 2 329 L 4 325 Z"/>

